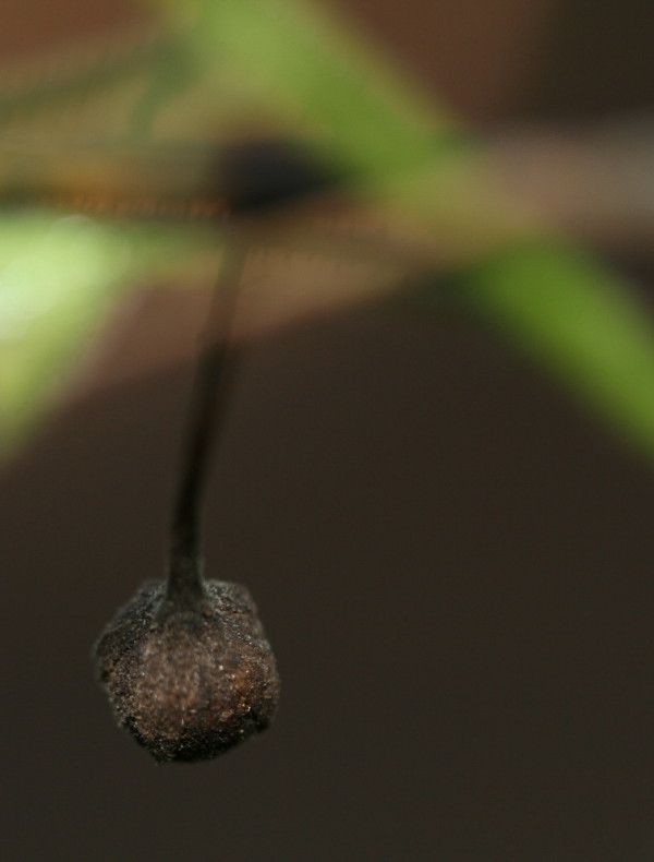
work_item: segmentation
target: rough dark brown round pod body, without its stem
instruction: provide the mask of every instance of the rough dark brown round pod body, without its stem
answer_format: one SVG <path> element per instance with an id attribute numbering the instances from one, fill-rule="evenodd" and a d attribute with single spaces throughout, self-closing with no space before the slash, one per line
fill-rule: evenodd
<path id="1" fill-rule="evenodd" d="M 216 757 L 270 723 L 279 677 L 249 591 L 205 583 L 196 610 L 144 585 L 98 640 L 116 716 L 160 762 Z"/>

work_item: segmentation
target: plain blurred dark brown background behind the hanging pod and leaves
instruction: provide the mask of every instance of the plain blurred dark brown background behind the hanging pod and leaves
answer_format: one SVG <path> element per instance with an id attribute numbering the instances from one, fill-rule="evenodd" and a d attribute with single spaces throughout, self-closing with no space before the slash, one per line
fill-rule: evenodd
<path id="1" fill-rule="evenodd" d="M 347 7 L 500 149 L 652 108 L 640 0 Z M 0 57 L 135 19 L 5 0 Z M 620 224 L 589 238 L 650 302 L 646 226 Z M 191 766 L 117 730 L 90 648 L 161 575 L 205 300 L 154 285 L 125 308 L 0 477 L 3 858 L 654 859 L 650 468 L 453 309 L 341 311 L 251 345 L 207 574 L 259 606 L 278 718 Z"/>

